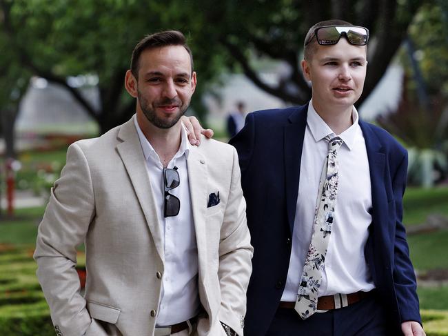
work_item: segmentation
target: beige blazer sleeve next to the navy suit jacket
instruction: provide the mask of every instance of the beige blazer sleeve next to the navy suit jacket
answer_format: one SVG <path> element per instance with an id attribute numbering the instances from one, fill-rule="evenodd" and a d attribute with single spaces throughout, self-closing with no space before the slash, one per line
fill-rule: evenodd
<path id="1" fill-rule="evenodd" d="M 243 335 L 246 291 L 252 273 L 253 253 L 245 209 L 238 155 L 233 149 L 232 181 L 219 244 L 218 278 L 221 287 L 219 319 L 240 336 Z"/>

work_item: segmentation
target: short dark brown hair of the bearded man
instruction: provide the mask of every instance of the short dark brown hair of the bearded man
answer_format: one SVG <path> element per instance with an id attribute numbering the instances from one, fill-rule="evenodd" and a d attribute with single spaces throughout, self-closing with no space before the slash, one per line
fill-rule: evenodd
<path id="1" fill-rule="evenodd" d="M 132 51 L 131 57 L 131 72 L 136 79 L 139 78 L 139 59 L 144 50 L 153 48 L 162 48 L 166 46 L 183 46 L 190 55 L 190 61 L 192 63 L 193 74 L 193 54 L 190 47 L 187 46 L 187 39 L 184 34 L 178 30 L 166 30 L 164 32 L 156 32 L 155 34 L 147 35 L 143 38 Z"/>

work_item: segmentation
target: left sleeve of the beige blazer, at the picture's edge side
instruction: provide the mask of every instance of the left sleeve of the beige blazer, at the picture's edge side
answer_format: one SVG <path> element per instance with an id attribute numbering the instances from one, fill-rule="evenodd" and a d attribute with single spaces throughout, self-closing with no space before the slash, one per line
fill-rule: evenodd
<path id="1" fill-rule="evenodd" d="M 77 246 L 94 217 L 94 196 L 88 162 L 77 144 L 67 152 L 67 164 L 54 183 L 39 225 L 34 259 L 37 277 L 50 306 L 54 327 L 64 336 L 80 336 L 91 318 L 75 266 Z"/>

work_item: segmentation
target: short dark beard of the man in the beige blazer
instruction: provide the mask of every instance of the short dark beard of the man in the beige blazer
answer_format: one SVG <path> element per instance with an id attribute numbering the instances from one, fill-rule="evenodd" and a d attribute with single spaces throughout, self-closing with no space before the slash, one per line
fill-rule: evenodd
<path id="1" fill-rule="evenodd" d="M 182 101 L 177 98 L 174 99 L 167 98 L 161 101 L 155 101 L 154 102 L 155 106 L 163 106 L 163 105 L 179 106 L 179 112 L 177 113 L 177 115 L 174 115 L 173 117 L 170 118 L 161 118 L 156 115 L 156 111 L 151 108 L 151 104 L 147 101 L 147 99 L 145 99 L 145 97 L 143 97 L 143 95 L 141 95 L 141 92 L 139 90 L 137 91 L 137 95 L 139 98 L 140 108 L 143 114 L 145 115 L 146 119 L 150 121 L 150 123 L 152 123 L 154 126 L 163 129 L 172 128 L 172 126 L 176 125 L 177 121 L 179 121 L 179 119 L 181 119 L 181 117 L 187 111 L 187 108 L 190 103 L 189 101 L 183 104 Z"/>

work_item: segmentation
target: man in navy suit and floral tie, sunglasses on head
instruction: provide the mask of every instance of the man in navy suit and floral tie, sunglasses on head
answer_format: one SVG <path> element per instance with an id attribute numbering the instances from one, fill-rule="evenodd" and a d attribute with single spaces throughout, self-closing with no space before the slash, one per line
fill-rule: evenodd
<path id="1" fill-rule="evenodd" d="M 314 25 L 311 101 L 251 113 L 230 141 L 254 246 L 248 336 L 425 335 L 401 223 L 407 152 L 354 107 L 368 39 L 346 21 Z"/>

